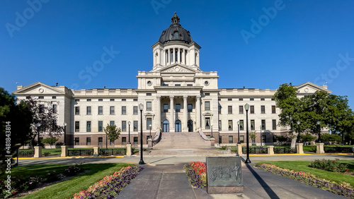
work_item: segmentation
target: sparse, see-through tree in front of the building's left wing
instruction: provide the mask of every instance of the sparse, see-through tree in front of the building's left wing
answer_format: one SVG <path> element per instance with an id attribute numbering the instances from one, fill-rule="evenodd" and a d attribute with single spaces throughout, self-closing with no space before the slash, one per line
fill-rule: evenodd
<path id="1" fill-rule="evenodd" d="M 41 102 L 33 97 L 23 100 L 30 107 L 33 121 L 30 125 L 30 146 L 34 150 L 35 138 L 38 136 L 37 123 L 40 123 L 40 133 L 47 134 L 50 137 L 57 137 L 64 132 L 62 126 L 57 125 L 57 111 L 53 109 L 50 102 Z"/>

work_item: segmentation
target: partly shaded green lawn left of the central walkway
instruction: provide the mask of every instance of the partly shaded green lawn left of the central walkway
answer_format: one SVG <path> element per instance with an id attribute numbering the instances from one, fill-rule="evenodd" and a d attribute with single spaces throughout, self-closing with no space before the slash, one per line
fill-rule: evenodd
<path id="1" fill-rule="evenodd" d="M 107 163 L 107 164 L 82 164 L 80 167 L 84 170 L 89 170 L 86 173 L 74 176 L 72 179 L 55 183 L 52 186 L 43 188 L 42 190 L 26 195 L 23 198 L 72 198 L 74 193 L 86 190 L 96 181 L 100 181 L 105 176 L 119 171 L 122 167 L 127 167 L 131 164 L 124 163 Z M 69 164 L 31 164 L 11 169 L 11 175 L 16 176 L 45 176 L 47 171 L 57 171 L 57 173 L 67 169 Z"/>

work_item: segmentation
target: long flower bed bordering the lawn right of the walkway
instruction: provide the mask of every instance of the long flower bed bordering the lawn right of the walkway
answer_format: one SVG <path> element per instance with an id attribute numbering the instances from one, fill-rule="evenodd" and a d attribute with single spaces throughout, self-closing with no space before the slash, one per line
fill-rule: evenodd
<path id="1" fill-rule="evenodd" d="M 294 179 L 301 183 L 306 183 L 310 186 L 314 186 L 326 191 L 330 191 L 332 193 L 336 193 L 338 195 L 343 195 L 347 198 L 354 198 L 353 187 L 345 181 L 343 181 L 342 183 L 336 183 L 333 181 L 328 181 L 326 179 L 319 179 L 316 176 L 309 173 L 305 173 L 303 171 L 282 169 L 280 167 L 275 167 L 272 164 L 256 164 L 255 167 L 271 172 L 273 174 L 278 174 L 280 176 L 285 176 L 287 178 Z"/>

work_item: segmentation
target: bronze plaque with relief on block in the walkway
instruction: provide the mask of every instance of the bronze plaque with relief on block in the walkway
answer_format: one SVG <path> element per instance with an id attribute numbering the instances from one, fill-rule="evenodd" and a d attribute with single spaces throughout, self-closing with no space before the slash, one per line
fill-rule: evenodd
<path id="1" fill-rule="evenodd" d="M 207 157 L 207 186 L 244 186 L 241 157 Z"/>

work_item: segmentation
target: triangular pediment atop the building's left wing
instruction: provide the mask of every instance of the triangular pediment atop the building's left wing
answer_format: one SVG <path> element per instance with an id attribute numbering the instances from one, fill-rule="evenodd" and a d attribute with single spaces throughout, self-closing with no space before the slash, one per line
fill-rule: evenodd
<path id="1" fill-rule="evenodd" d="M 13 92 L 15 95 L 63 95 L 64 92 L 44 83 L 33 83 Z"/>

